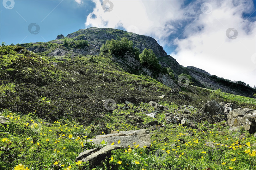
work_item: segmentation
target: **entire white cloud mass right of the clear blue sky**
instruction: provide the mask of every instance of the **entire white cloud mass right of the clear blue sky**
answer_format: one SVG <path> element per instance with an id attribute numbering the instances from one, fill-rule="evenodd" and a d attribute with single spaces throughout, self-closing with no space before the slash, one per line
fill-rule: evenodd
<path id="1" fill-rule="evenodd" d="M 94 1 L 96 6 L 87 16 L 85 27 L 123 27 L 129 31 L 135 26 L 135 33 L 155 38 L 165 50 L 175 44 L 177 48 L 171 56 L 181 65 L 255 85 L 256 66 L 251 60 L 256 47 L 255 21 L 242 18 L 243 13 L 253 12 L 253 2 L 194 1 L 187 6 L 183 2 L 117 0 L 111 1 L 113 9 L 107 12 L 100 1 Z M 204 2 L 212 5 L 210 14 L 201 12 Z M 186 30 L 180 31 L 184 26 Z M 226 36 L 230 27 L 238 31 L 234 40 Z M 170 41 L 170 36 L 178 38 Z"/>

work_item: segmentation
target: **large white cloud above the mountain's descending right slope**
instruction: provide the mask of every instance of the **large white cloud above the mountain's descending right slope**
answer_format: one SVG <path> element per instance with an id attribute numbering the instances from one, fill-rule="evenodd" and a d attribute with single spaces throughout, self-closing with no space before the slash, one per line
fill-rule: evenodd
<path id="1" fill-rule="evenodd" d="M 192 65 L 253 87 L 256 84 L 256 65 L 251 59 L 256 50 L 255 21 L 242 18 L 243 12 L 253 11 L 248 9 L 248 4 L 236 3 L 236 6 L 232 1 L 211 3 L 211 14 L 200 14 L 186 30 L 187 37 L 175 41 L 178 47 L 170 55 L 183 66 Z M 198 26 L 203 26 L 203 29 L 193 32 L 192 29 Z M 236 39 L 226 36 L 228 28 L 238 31 Z"/>

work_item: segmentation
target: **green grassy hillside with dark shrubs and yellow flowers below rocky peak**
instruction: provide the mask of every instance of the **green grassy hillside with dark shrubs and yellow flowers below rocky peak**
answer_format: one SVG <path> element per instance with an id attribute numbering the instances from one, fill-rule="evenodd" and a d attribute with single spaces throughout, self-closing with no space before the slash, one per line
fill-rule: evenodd
<path id="1" fill-rule="evenodd" d="M 198 169 L 253 168 L 250 161 L 255 162 L 255 156 L 245 153 L 256 149 L 253 135 L 241 130 L 244 134 L 239 138 L 240 134 L 229 132 L 225 121 L 198 121 L 198 129 L 166 124 L 164 114 L 180 105 L 200 109 L 213 99 L 256 109 L 255 99 L 196 86 L 172 94 L 171 88 L 149 76 L 125 72 L 108 54 L 80 56 L 56 65 L 20 46 L 2 46 L 0 51 L 0 112 L 9 118 L 0 126 L 0 169 L 9 170 L 18 164 L 34 170 L 69 166 L 74 170 L 80 166 L 90 169 L 86 162 L 76 165 L 76 156 L 96 147 L 87 142 L 96 135 L 139 129 L 125 124 L 124 115 L 129 113 L 141 117 L 144 124 L 157 120 L 166 127 L 151 129 L 150 148 L 139 149 L 131 144 L 131 152 L 125 152 L 128 146 L 113 151 L 113 161 L 107 159 L 102 169 L 176 170 L 188 165 Z M 160 99 L 159 95 L 166 98 Z M 104 107 L 107 99 L 117 103 L 115 110 Z M 168 111 L 155 119 L 138 111 L 138 107 L 153 110 L 147 104 L 150 100 L 167 106 Z M 133 103 L 128 110 L 123 110 L 125 101 Z M 196 114 L 192 112 L 191 116 Z M 169 140 L 165 141 L 165 137 Z M 215 147 L 206 146 L 207 142 L 214 142 Z M 160 155 L 155 154 L 157 150 Z"/>

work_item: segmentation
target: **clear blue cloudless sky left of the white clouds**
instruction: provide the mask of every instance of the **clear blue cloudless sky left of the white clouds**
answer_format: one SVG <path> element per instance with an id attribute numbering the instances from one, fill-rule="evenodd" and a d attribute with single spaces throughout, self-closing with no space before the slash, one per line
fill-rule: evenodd
<path id="1" fill-rule="evenodd" d="M 1 43 L 3 41 L 7 44 L 47 42 L 55 39 L 59 34 L 66 36 L 83 29 L 87 15 L 95 7 L 92 1 L 84 1 L 83 6 L 69 0 L 15 0 L 14 2 L 12 9 L 6 9 L 1 0 Z M 11 4 L 7 3 L 7 5 Z M 38 34 L 31 34 L 28 31 L 28 25 L 31 23 L 40 26 Z"/>

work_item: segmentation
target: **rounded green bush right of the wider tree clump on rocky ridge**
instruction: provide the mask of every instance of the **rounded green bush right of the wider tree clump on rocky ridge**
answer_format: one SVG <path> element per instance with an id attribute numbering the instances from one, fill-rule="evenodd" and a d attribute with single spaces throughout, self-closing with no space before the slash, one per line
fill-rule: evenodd
<path id="1" fill-rule="evenodd" d="M 158 63 L 158 59 L 152 49 L 145 48 L 143 52 L 139 55 L 140 63 L 147 65 L 155 70 L 159 70 L 161 65 Z"/>

